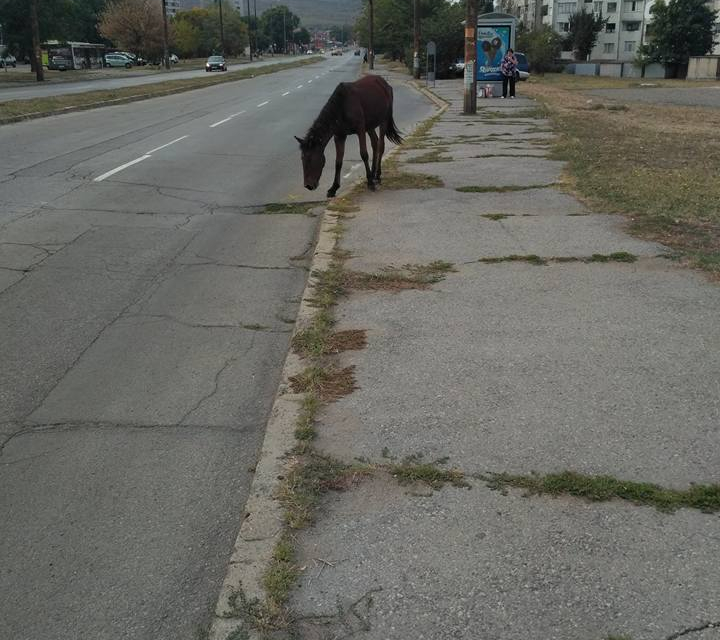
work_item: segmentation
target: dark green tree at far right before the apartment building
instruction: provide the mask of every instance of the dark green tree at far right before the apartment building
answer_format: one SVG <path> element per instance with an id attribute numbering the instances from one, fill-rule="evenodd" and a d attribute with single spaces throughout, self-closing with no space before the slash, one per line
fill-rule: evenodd
<path id="1" fill-rule="evenodd" d="M 649 42 L 638 51 L 642 62 L 685 65 L 712 50 L 717 11 L 704 0 L 657 0 L 650 13 Z"/>

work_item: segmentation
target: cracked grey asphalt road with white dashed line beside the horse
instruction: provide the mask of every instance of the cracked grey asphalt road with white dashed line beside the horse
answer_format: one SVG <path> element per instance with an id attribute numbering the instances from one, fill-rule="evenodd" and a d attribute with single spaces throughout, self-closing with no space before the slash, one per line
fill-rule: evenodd
<path id="1" fill-rule="evenodd" d="M 208 620 L 317 226 L 261 212 L 323 196 L 293 135 L 358 64 L 0 127 L 0 638 Z"/>

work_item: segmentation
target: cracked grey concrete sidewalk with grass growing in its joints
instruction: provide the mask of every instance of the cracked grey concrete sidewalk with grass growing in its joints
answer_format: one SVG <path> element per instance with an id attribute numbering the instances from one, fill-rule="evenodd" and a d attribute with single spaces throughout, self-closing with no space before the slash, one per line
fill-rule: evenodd
<path id="1" fill-rule="evenodd" d="M 367 347 L 334 356 L 358 388 L 322 409 L 314 447 L 378 468 L 440 461 L 470 487 L 380 471 L 326 494 L 296 538 L 299 636 L 720 639 L 717 513 L 479 478 L 720 482 L 720 289 L 552 186 L 563 166 L 535 103 L 465 117 L 460 82 L 436 93 L 449 108 L 400 169 L 445 186 L 363 195 L 340 246 L 349 270 L 456 271 L 341 299 L 336 328 L 366 330 Z"/>

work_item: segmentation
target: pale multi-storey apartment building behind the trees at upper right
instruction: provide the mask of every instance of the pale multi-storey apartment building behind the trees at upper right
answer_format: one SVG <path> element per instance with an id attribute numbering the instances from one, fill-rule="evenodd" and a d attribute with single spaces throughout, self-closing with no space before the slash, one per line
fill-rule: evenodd
<path id="1" fill-rule="evenodd" d="M 638 47 L 647 41 L 648 26 L 652 22 L 650 9 L 654 0 L 520 0 L 520 20 L 526 25 L 549 25 L 558 33 L 570 30 L 570 16 L 585 8 L 607 19 L 598 34 L 591 59 L 602 62 L 631 62 Z M 710 0 L 720 10 L 720 0 Z M 716 24 L 720 40 L 720 21 Z M 720 43 L 714 53 L 720 54 Z"/>

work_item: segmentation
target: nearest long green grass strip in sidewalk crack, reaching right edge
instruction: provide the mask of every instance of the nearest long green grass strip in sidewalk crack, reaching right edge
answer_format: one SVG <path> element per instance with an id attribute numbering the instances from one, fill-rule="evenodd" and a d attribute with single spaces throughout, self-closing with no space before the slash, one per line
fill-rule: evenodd
<path id="1" fill-rule="evenodd" d="M 593 502 L 619 498 L 633 504 L 648 505 L 659 511 L 672 512 L 686 507 L 704 512 L 720 511 L 720 485 L 692 485 L 689 489 L 668 489 L 646 482 L 618 480 L 612 476 L 589 476 L 574 471 L 547 475 L 511 475 L 507 473 L 480 476 L 489 487 L 515 487 L 530 495 L 571 495 Z"/>

